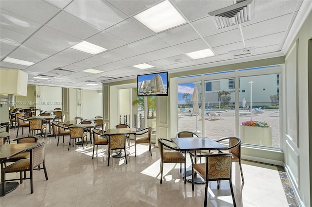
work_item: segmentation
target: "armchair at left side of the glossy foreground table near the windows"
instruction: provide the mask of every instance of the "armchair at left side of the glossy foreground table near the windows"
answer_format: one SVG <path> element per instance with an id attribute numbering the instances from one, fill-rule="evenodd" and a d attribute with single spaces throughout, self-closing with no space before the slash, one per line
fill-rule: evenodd
<path id="1" fill-rule="evenodd" d="M 162 184 L 162 173 L 164 163 L 180 163 L 180 173 L 182 172 L 182 163 L 185 164 L 185 157 L 181 153 L 175 143 L 165 138 L 158 138 L 158 148 L 160 153 L 160 184 Z M 165 149 L 169 151 L 165 152 Z"/>

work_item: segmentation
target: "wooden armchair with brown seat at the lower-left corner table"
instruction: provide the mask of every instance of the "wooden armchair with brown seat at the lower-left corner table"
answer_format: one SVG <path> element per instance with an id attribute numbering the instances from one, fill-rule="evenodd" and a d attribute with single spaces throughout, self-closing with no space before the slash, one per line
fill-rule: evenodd
<path id="1" fill-rule="evenodd" d="M 2 196 L 5 195 L 5 185 L 7 181 L 15 181 L 20 180 L 20 183 L 22 183 L 22 180 L 30 179 L 30 192 L 34 192 L 34 173 L 33 170 L 41 170 L 43 169 L 45 179 L 48 180 L 48 174 L 45 168 L 44 164 L 44 142 L 40 143 L 39 145 L 36 145 L 35 147 L 32 147 L 29 149 L 30 152 L 30 159 L 20 159 L 19 161 L 14 162 L 13 164 L 5 167 L 2 169 Z M 43 165 L 42 168 L 37 168 L 40 164 Z M 22 172 L 30 172 L 30 177 L 24 177 L 22 178 Z M 18 173 L 20 172 L 20 178 L 19 179 L 6 179 L 6 173 Z"/>

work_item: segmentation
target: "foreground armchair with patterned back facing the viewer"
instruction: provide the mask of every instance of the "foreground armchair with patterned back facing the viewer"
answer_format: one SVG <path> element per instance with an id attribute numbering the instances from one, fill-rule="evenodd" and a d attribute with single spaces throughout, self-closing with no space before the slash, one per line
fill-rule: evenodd
<path id="1" fill-rule="evenodd" d="M 232 186 L 232 154 L 204 154 L 194 155 L 189 153 L 192 161 L 192 190 L 194 191 L 195 172 L 205 179 L 205 201 L 204 207 L 207 207 L 208 182 L 217 181 L 217 189 L 220 189 L 220 180 L 228 180 L 234 207 L 236 207 L 233 186 Z M 194 163 L 194 157 L 205 157 L 205 163 Z"/>

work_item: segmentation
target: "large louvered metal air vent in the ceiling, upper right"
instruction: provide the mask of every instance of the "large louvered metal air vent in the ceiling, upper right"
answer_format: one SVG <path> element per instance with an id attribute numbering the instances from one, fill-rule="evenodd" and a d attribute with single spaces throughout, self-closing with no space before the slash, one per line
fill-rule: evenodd
<path id="1" fill-rule="evenodd" d="M 252 4 L 254 4 L 254 0 L 243 0 L 208 14 L 212 17 L 215 16 L 215 24 L 218 29 L 230 27 L 251 20 L 254 9 Z"/>

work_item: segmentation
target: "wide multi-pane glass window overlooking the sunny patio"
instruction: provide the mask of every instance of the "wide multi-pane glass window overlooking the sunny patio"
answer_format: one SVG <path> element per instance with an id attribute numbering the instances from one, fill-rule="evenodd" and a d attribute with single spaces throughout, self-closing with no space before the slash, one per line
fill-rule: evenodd
<path id="1" fill-rule="evenodd" d="M 177 85 L 178 131 L 193 131 L 214 139 L 235 136 L 243 144 L 280 148 L 281 67 L 181 77 L 185 83 L 180 81 Z M 187 78 L 192 81 L 188 82 Z M 198 114 L 193 110 L 195 86 Z"/>

